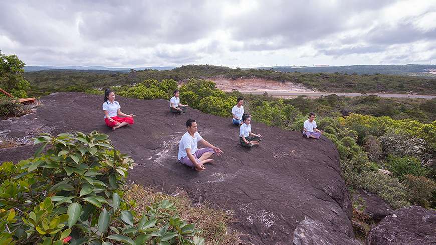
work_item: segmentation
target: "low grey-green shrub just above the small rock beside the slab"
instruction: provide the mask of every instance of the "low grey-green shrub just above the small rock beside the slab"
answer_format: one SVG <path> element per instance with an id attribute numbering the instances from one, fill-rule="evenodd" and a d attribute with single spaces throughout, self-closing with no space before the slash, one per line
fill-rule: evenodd
<path id="1" fill-rule="evenodd" d="M 410 206 L 407 188 L 398 179 L 378 172 L 362 172 L 357 186 L 381 197 L 393 209 Z"/>

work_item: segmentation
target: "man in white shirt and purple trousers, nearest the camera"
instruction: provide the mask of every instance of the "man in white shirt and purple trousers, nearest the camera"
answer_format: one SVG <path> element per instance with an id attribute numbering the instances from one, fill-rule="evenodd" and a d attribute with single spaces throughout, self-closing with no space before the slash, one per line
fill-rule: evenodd
<path id="1" fill-rule="evenodd" d="M 209 159 L 214 153 L 220 155 L 223 151 L 220 148 L 210 144 L 203 139 L 198 131 L 198 126 L 195 120 L 189 119 L 186 121 L 188 131 L 182 136 L 178 147 L 178 160 L 189 167 L 195 168 L 197 171 L 203 171 L 205 163 L 212 163 L 215 160 Z M 198 141 L 205 148 L 197 149 Z"/>

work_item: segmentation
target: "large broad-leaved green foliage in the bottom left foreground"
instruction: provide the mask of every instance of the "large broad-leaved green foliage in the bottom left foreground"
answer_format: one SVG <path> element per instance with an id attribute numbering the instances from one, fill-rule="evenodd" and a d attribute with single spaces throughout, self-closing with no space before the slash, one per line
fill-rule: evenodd
<path id="1" fill-rule="evenodd" d="M 108 135 L 42 134 L 33 159 L 0 166 L 0 241 L 9 244 L 202 244 L 167 200 L 129 211 L 124 180 L 133 161 Z M 41 154 L 46 150 L 45 154 Z"/>

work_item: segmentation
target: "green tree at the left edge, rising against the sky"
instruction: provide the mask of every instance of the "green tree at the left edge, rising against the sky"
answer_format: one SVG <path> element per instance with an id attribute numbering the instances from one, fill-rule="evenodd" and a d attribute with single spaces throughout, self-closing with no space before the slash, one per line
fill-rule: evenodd
<path id="1" fill-rule="evenodd" d="M 30 87 L 23 77 L 24 65 L 16 55 L 4 55 L 0 52 L 0 88 L 16 97 L 26 97 L 26 91 Z"/>

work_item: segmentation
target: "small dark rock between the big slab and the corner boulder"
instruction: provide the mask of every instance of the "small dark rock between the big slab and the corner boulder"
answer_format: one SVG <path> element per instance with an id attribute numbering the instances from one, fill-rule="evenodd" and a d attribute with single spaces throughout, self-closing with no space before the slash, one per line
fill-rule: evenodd
<path id="1" fill-rule="evenodd" d="M 384 217 L 392 214 L 393 212 L 389 205 L 387 205 L 383 199 L 376 196 L 375 194 L 359 190 L 356 194 L 353 195 L 353 201 L 359 201 L 359 198 L 361 198 L 361 200 L 363 200 L 364 202 L 363 205 L 365 209 L 363 210 L 363 213 L 371 218 L 370 221 L 378 223 Z"/>

